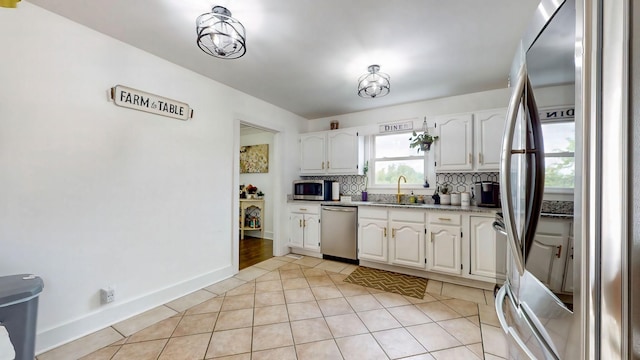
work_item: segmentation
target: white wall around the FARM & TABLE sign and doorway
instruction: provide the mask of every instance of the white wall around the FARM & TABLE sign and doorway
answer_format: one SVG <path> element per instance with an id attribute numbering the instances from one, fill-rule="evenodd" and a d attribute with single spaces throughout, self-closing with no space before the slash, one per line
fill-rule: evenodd
<path id="1" fill-rule="evenodd" d="M 281 129 L 284 206 L 304 119 L 28 2 L 0 11 L 0 43 L 0 275 L 45 282 L 37 352 L 237 271 L 238 121 Z M 117 107 L 116 84 L 195 117 Z M 108 285 L 117 300 L 101 305 Z"/>

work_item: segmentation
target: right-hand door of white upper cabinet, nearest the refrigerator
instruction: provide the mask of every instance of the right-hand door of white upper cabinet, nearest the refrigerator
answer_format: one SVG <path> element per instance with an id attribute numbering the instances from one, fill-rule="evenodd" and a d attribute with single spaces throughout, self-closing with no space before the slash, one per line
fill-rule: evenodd
<path id="1" fill-rule="evenodd" d="M 479 111 L 474 117 L 474 162 L 476 170 L 498 171 L 506 109 Z"/>

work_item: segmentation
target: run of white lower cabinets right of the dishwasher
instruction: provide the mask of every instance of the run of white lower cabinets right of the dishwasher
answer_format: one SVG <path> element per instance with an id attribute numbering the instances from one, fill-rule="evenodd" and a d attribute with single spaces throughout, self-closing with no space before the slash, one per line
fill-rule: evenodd
<path id="1" fill-rule="evenodd" d="M 506 273 L 494 214 L 360 206 L 358 258 L 490 283 Z"/>

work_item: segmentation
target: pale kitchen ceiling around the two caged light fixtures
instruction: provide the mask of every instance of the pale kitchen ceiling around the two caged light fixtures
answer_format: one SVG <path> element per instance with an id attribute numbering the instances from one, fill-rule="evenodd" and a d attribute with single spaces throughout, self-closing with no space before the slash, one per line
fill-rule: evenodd
<path id="1" fill-rule="evenodd" d="M 539 2 L 28 1 L 307 119 L 504 88 Z M 242 58 L 196 45 L 195 19 L 214 5 L 245 26 Z M 391 92 L 363 99 L 357 79 L 372 64 L 391 76 Z"/>

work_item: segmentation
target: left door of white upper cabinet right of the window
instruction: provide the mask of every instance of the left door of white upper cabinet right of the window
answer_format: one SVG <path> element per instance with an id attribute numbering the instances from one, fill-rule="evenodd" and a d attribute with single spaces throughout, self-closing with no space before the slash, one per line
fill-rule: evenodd
<path id="1" fill-rule="evenodd" d="M 436 134 L 436 171 L 473 169 L 473 115 L 438 117 Z"/>

